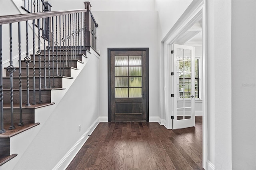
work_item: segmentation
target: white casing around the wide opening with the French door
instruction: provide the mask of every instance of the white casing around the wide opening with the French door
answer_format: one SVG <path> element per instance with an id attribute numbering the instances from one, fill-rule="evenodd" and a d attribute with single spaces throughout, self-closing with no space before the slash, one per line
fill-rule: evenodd
<path id="1" fill-rule="evenodd" d="M 172 129 L 172 108 L 173 99 L 171 99 L 172 93 L 172 56 L 171 44 L 174 43 L 186 30 L 188 30 L 198 18 L 202 18 L 202 100 L 203 100 L 203 125 L 202 125 L 202 138 L 203 138 L 203 147 L 202 147 L 202 166 L 205 169 L 207 165 L 207 143 L 208 143 L 208 136 L 207 136 L 207 72 L 206 72 L 206 64 L 207 64 L 207 44 L 206 44 L 206 30 L 207 30 L 207 21 L 206 21 L 206 0 L 198 0 L 192 1 L 182 16 L 178 19 L 178 21 L 174 24 L 174 26 L 170 29 L 168 34 L 163 38 L 161 41 L 161 54 L 164 58 L 164 114 L 166 116 L 166 128 Z M 170 64 L 168 64 L 170 63 Z"/>

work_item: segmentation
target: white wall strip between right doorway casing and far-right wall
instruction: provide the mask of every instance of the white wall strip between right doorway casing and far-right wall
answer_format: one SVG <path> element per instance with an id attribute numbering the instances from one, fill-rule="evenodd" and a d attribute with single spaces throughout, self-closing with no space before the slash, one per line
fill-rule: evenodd
<path id="1" fill-rule="evenodd" d="M 207 1 L 208 161 L 232 169 L 231 1 Z"/>

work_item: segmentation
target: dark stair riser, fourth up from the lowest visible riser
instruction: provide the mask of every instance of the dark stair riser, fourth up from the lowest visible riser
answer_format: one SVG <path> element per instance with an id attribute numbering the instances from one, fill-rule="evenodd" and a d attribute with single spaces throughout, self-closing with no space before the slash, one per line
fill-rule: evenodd
<path id="1" fill-rule="evenodd" d="M 49 78 L 46 77 L 46 87 L 49 86 Z M 51 86 L 54 86 L 54 88 L 62 88 L 62 77 L 55 77 L 54 78 L 54 84 L 53 84 L 53 78 L 51 77 Z M 21 87 L 22 89 L 27 88 L 27 79 L 22 78 L 21 79 Z M 29 88 L 32 89 L 34 87 L 33 78 L 29 78 Z M 19 88 L 19 79 L 13 78 L 13 89 Z M 41 78 L 41 88 L 44 88 L 44 77 Z M 3 89 L 10 89 L 10 78 L 4 78 L 3 79 Z M 39 89 L 39 78 L 36 77 L 36 89 Z"/>

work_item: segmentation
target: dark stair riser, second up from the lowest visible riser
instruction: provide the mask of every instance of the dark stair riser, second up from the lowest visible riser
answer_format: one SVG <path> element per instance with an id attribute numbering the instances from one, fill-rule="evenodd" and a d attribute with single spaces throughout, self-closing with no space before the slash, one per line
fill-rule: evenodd
<path id="1" fill-rule="evenodd" d="M 18 125 L 20 123 L 20 110 L 14 109 L 13 110 L 13 123 L 14 125 Z M 4 123 L 10 124 L 11 123 L 11 111 L 10 109 L 4 109 Z M 35 121 L 35 114 L 34 109 L 22 109 L 22 122 L 24 124 L 27 123 L 34 123 Z"/>

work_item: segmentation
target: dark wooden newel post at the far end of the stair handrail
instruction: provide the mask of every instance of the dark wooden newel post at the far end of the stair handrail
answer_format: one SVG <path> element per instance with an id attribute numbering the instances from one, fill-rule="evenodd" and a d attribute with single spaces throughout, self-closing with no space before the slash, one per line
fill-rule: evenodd
<path id="1" fill-rule="evenodd" d="M 91 24 L 90 24 L 90 20 L 91 20 L 91 17 L 90 17 L 90 10 L 91 10 L 91 4 L 90 2 L 84 2 L 84 8 L 87 9 L 86 13 L 85 13 L 85 38 L 84 38 L 84 44 L 85 44 L 85 47 L 86 49 L 90 50 L 90 40 L 91 40 L 91 34 L 90 34 L 90 30 L 91 30 Z"/>

